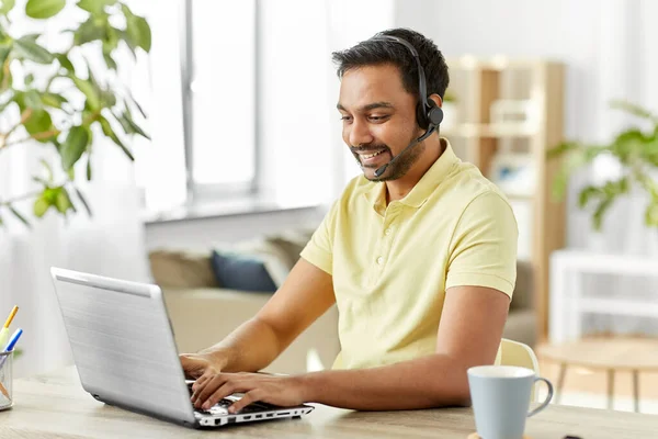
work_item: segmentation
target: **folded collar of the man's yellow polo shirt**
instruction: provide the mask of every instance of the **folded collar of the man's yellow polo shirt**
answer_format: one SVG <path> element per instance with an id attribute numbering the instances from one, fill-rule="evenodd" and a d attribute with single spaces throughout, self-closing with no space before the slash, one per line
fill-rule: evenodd
<path id="1" fill-rule="evenodd" d="M 404 199 L 399 200 L 400 203 L 415 209 L 423 205 L 445 176 L 447 176 L 451 168 L 460 160 L 446 138 L 441 137 L 441 143 L 445 145 L 445 150 L 441 157 L 420 178 L 413 189 Z M 375 211 L 382 213 L 386 210 L 386 184 L 384 182 L 375 183 L 365 195 L 373 204 Z"/>

